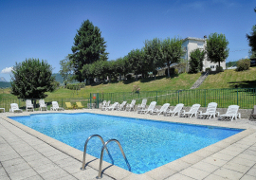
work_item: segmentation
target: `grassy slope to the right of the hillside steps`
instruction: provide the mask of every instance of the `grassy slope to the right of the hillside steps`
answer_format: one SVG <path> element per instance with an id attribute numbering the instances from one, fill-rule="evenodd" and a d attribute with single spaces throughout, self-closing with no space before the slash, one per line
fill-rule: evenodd
<path id="1" fill-rule="evenodd" d="M 256 67 L 250 67 L 247 71 L 237 72 L 234 69 L 209 75 L 198 89 L 221 89 L 221 88 L 255 88 Z"/>

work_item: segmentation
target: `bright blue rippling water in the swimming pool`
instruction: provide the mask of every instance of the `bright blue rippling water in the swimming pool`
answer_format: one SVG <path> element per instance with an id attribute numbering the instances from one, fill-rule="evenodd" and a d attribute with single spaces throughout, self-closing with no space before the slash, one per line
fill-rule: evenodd
<path id="1" fill-rule="evenodd" d="M 104 141 L 116 138 L 126 154 L 131 171 L 137 174 L 154 170 L 243 131 L 89 113 L 9 118 L 81 151 L 90 135 L 101 135 Z M 88 143 L 87 153 L 100 158 L 101 147 L 100 138 L 94 137 Z M 128 170 L 118 144 L 110 142 L 108 150 L 114 165 Z M 111 163 L 107 153 L 104 153 L 103 160 Z"/>

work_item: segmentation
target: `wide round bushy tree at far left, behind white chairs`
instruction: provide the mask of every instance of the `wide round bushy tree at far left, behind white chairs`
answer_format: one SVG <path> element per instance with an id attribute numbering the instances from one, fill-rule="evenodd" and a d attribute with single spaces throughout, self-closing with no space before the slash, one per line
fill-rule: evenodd
<path id="1" fill-rule="evenodd" d="M 18 99 L 45 99 L 48 91 L 54 90 L 52 67 L 46 61 L 26 59 L 13 66 L 11 94 Z"/>

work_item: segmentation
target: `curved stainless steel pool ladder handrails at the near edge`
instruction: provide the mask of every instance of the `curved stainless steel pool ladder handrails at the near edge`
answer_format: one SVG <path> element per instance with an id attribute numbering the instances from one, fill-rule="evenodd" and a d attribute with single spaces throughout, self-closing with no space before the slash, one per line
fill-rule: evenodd
<path id="1" fill-rule="evenodd" d="M 125 162 L 126 162 L 126 165 L 127 165 L 128 169 L 129 169 L 129 171 L 131 171 L 130 164 L 129 164 L 129 162 L 128 162 L 128 160 L 127 160 L 127 158 L 126 158 L 126 156 L 125 156 L 125 154 L 124 154 L 124 152 L 123 152 L 123 150 L 122 150 L 122 147 L 121 147 L 119 141 L 118 141 L 117 139 L 112 138 L 112 139 L 109 139 L 108 141 L 104 142 L 104 140 L 103 140 L 103 138 L 101 137 L 101 135 L 91 135 L 91 136 L 89 136 L 89 137 L 86 139 L 86 141 L 85 141 L 85 143 L 84 143 L 84 151 L 83 151 L 83 157 L 82 157 L 82 168 L 81 168 L 81 170 L 85 170 L 85 158 L 86 158 L 87 144 L 88 144 L 89 140 L 90 140 L 92 137 L 94 137 L 94 136 L 98 136 L 98 137 L 101 139 L 101 142 L 102 142 L 102 144 L 103 144 L 103 146 L 102 146 L 102 148 L 101 148 L 101 160 L 100 160 L 99 174 L 98 174 L 98 176 L 96 177 L 97 179 L 101 179 L 101 178 L 102 178 L 102 173 L 101 173 L 101 171 L 102 171 L 102 160 L 103 160 L 104 149 L 105 149 L 106 152 L 108 153 L 108 155 L 109 155 L 109 157 L 110 157 L 110 159 L 111 159 L 111 161 L 112 161 L 112 164 L 114 164 L 113 158 L 112 158 L 112 156 L 110 155 L 110 153 L 108 152 L 107 147 L 106 147 L 107 144 L 108 144 L 109 142 L 111 142 L 111 141 L 114 141 L 114 142 L 118 143 L 120 152 L 122 153 L 122 156 L 123 156 L 123 158 L 124 158 L 124 160 L 125 160 Z"/>

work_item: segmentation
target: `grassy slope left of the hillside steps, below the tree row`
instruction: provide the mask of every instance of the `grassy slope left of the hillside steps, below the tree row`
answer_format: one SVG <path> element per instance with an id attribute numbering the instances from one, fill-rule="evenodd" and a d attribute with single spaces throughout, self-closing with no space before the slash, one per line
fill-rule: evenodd
<path id="1" fill-rule="evenodd" d="M 86 85 L 79 91 L 69 89 L 58 89 L 53 93 L 47 93 L 48 98 L 76 98 L 90 96 L 90 93 L 115 93 L 132 92 L 134 85 L 138 85 L 140 91 L 164 91 L 176 89 L 189 89 L 192 84 L 201 76 L 200 73 L 189 75 L 180 74 L 178 77 L 166 78 L 157 77 L 139 81 L 118 81 L 105 84 Z"/>

